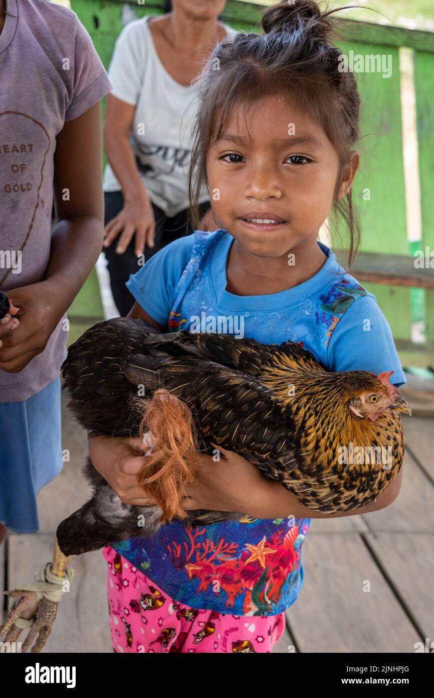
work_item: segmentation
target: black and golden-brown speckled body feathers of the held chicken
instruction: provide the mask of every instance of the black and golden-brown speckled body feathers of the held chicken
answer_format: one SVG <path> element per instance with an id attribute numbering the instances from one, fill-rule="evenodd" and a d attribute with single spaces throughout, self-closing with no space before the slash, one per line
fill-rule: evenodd
<path id="1" fill-rule="evenodd" d="M 70 407 L 95 434 L 136 435 L 130 397 L 164 387 L 192 410 L 201 450 L 211 441 L 256 463 L 307 507 L 343 512 L 371 501 L 398 473 L 403 431 L 389 411 L 357 419 L 348 400 L 375 387 L 368 371 L 331 373 L 288 342 L 261 345 L 229 335 L 159 334 L 116 318 L 88 329 L 63 364 Z M 291 392 L 292 390 L 292 392 Z M 339 447 L 390 446 L 392 467 L 339 463 Z M 290 514 L 290 512 L 288 512 Z"/>

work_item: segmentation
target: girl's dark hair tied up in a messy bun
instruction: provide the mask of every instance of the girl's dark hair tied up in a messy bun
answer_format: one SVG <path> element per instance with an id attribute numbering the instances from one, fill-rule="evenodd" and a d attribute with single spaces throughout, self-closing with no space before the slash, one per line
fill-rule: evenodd
<path id="1" fill-rule="evenodd" d="M 339 154 L 336 196 L 350 150 L 359 138 L 360 99 L 355 75 L 338 69 L 341 51 L 331 38 L 342 20 L 331 15 L 352 7 L 357 6 L 322 11 L 313 0 L 282 0 L 264 10 L 263 34 L 240 32 L 217 43 L 196 81 L 198 101 L 188 173 L 194 229 L 199 227 L 201 189 L 208 185 L 210 146 L 233 110 L 245 113 L 265 94 L 294 95 L 297 105 L 322 126 Z M 360 242 L 359 216 L 351 191 L 334 202 L 334 228 L 339 216 L 350 234 L 350 267 Z"/>

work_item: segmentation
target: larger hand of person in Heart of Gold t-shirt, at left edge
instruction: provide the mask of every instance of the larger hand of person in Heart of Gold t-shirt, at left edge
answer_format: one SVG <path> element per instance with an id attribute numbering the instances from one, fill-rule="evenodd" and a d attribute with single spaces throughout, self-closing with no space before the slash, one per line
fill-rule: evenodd
<path id="1" fill-rule="evenodd" d="M 45 349 L 64 309 L 61 289 L 48 280 L 14 288 L 10 295 L 20 311 L 16 318 L 7 323 L 5 318 L 6 324 L 0 324 L 0 369 L 18 373 Z M 17 327 L 8 330 L 17 320 Z"/>

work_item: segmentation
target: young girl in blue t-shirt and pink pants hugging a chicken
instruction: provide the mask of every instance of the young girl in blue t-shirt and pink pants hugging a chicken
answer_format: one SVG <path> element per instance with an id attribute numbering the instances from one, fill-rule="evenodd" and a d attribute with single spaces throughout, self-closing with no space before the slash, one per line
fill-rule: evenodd
<path id="1" fill-rule="evenodd" d="M 217 45 L 199 84 L 189 182 L 196 204 L 207 181 L 221 228 L 176 240 L 131 276 L 130 317 L 165 331 L 207 331 L 226 318 L 238 336 L 302 343 L 331 371 L 393 369 L 402 385 L 375 297 L 317 241 L 333 211 L 348 223 L 352 249 L 358 237 L 350 190 L 359 96 L 354 75 L 339 72 L 330 14 L 310 0 L 281 2 L 263 13 L 263 36 Z M 137 441 L 93 438 L 91 456 L 124 502 L 149 504 L 135 479 Z M 104 548 L 114 651 L 270 652 L 281 638 L 311 518 L 330 515 L 242 457 L 223 456 L 201 456 L 186 508 L 246 512 L 240 521 L 187 530 L 175 521 L 155 540 Z M 334 516 L 389 505 L 401 477 L 402 468 L 374 503 Z"/>

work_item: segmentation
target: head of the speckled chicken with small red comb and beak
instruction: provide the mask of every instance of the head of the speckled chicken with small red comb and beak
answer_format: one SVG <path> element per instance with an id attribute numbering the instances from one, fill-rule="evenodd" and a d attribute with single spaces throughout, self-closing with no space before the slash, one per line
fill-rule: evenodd
<path id="1" fill-rule="evenodd" d="M 375 422 L 375 419 L 387 410 L 398 410 L 411 415 L 412 410 L 408 402 L 403 398 L 398 388 L 389 383 L 392 373 L 393 371 L 378 373 L 376 381 L 373 381 L 372 389 L 350 399 L 350 410 L 357 417 L 371 419 L 371 422 Z"/>

